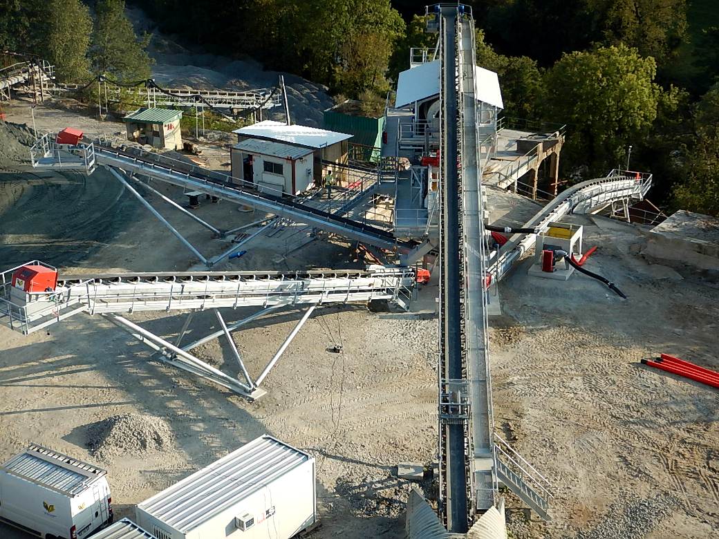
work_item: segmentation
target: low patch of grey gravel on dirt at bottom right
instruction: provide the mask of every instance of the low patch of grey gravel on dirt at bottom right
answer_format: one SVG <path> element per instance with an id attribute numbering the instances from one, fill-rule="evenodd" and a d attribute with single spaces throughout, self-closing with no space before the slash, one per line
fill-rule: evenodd
<path id="1" fill-rule="evenodd" d="M 639 539 L 664 520 L 677 506 L 669 494 L 638 499 L 623 494 L 608 510 L 607 516 L 592 530 L 582 530 L 576 539 Z"/>

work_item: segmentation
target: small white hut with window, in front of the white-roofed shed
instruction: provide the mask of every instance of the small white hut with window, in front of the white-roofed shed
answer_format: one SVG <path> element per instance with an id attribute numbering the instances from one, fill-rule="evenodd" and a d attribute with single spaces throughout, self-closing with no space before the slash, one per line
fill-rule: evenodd
<path id="1" fill-rule="evenodd" d="M 244 139 L 232 147 L 232 177 L 265 193 L 297 195 L 313 184 L 313 150 L 280 142 Z"/>

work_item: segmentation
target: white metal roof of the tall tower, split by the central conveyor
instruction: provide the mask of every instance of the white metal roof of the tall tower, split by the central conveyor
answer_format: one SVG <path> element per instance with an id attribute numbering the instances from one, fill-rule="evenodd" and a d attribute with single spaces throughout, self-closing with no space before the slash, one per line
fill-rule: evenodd
<path id="1" fill-rule="evenodd" d="M 400 73 L 395 107 L 407 106 L 431 96 L 439 95 L 439 60 L 418 65 Z M 497 73 L 477 66 L 475 76 L 477 101 L 504 108 Z"/>

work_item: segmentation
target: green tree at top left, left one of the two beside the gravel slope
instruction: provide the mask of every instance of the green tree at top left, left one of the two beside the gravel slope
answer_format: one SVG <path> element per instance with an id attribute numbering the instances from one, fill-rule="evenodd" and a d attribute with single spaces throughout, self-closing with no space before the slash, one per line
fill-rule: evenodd
<path id="1" fill-rule="evenodd" d="M 40 55 L 55 65 L 61 82 L 82 82 L 90 73 L 88 49 L 92 19 L 80 0 L 49 0 L 45 4 L 45 40 Z"/>

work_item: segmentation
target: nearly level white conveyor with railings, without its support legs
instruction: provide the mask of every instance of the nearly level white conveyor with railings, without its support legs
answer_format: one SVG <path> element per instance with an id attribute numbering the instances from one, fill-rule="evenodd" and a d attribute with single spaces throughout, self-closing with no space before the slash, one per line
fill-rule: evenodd
<path id="1" fill-rule="evenodd" d="M 42 264 L 31 262 L 29 264 Z M 26 265 L 26 264 L 24 264 Z M 55 290 L 24 292 L 12 286 L 20 267 L 0 274 L 0 321 L 32 333 L 78 313 L 206 310 L 252 305 L 301 305 L 390 300 L 408 304 L 412 270 L 312 272 L 169 272 L 60 277 Z"/>

